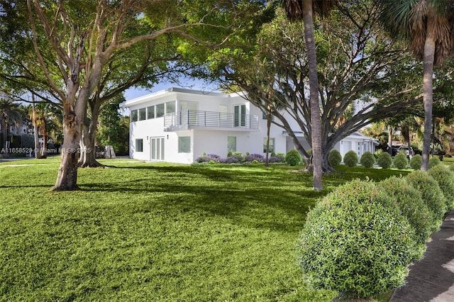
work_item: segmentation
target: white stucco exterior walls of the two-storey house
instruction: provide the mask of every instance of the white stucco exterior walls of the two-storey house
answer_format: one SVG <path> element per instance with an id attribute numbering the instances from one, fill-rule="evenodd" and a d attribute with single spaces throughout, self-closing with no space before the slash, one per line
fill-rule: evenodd
<path id="1" fill-rule="evenodd" d="M 135 111 L 171 101 L 175 101 L 177 112 L 182 108 L 187 108 L 185 102 L 192 102 L 192 108 L 195 107 L 196 110 L 215 113 L 233 113 L 235 106 L 245 105 L 245 114 L 258 116 L 258 129 L 190 126 L 188 129 L 165 130 L 164 117 L 133 121 L 130 125 L 131 146 L 129 156 L 131 158 L 190 164 L 204 152 L 226 157 L 228 137 L 236 138 L 236 152 L 265 155 L 263 144 L 267 136 L 267 121 L 263 118 L 260 108 L 253 106 L 238 94 L 203 94 L 201 91 L 174 88 L 126 101 L 122 106 Z M 298 128 L 296 121 L 290 123 L 295 129 Z M 187 138 L 190 140 L 189 152 L 179 152 L 179 138 L 182 137 L 186 137 L 186 142 Z M 270 128 L 270 138 L 274 139 L 275 152 L 286 153 L 294 149 L 293 142 L 287 133 L 273 124 Z M 141 152 L 138 151 L 136 140 L 143 142 Z M 304 137 L 301 136 L 299 140 L 304 147 L 309 148 Z M 345 155 L 348 150 L 355 150 L 358 152 L 358 156 L 361 156 L 366 150 L 373 152 L 375 146 L 370 138 L 354 133 L 338 142 L 336 149 L 341 152 L 341 155 Z"/>

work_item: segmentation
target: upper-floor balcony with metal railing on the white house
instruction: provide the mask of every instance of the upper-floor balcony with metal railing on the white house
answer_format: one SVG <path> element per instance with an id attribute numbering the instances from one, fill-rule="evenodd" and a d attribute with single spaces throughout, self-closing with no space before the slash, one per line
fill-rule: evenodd
<path id="1" fill-rule="evenodd" d="M 165 131 L 212 129 L 250 131 L 258 129 L 258 116 L 188 110 L 164 116 Z"/>

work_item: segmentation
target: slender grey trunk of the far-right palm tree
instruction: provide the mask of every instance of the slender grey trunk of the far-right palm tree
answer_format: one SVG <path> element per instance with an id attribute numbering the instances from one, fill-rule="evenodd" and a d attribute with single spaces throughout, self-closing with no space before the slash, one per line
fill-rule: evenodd
<path id="1" fill-rule="evenodd" d="M 423 57 L 423 105 L 424 137 L 421 170 L 428 170 L 428 155 L 431 150 L 431 125 L 433 104 L 433 61 L 435 57 L 435 39 L 433 38 L 434 17 L 427 18 L 427 35 Z"/>

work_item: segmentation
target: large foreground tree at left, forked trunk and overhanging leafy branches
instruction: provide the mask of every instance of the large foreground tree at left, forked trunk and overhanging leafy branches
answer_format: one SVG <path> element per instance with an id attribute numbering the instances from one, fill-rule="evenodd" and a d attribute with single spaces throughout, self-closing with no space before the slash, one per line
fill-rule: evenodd
<path id="1" fill-rule="evenodd" d="M 261 2 L 241 1 L 252 9 Z M 63 108 L 62 160 L 54 190 L 77 189 L 82 125 L 87 118 L 89 99 L 96 94 L 101 96 L 99 91 L 112 58 L 137 43 L 162 35 L 189 36 L 184 31 L 189 27 L 213 27 L 232 33 L 242 26 L 234 22 L 243 22 L 248 16 L 246 6 L 236 9 L 238 5 L 238 1 L 226 0 L 27 1 L 38 64 Z M 236 18 L 240 14 L 243 17 Z M 131 33 L 145 21 L 150 23 L 147 33 Z M 49 53 L 55 60 L 46 60 Z"/>

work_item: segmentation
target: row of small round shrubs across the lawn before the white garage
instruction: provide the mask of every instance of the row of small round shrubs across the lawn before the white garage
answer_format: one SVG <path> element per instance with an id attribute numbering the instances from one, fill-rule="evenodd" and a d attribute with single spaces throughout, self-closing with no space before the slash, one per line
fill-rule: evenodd
<path id="1" fill-rule="evenodd" d="M 331 167 L 336 167 L 342 162 L 342 155 L 341 152 L 339 152 L 336 149 L 331 150 L 328 156 L 328 161 L 329 164 L 331 164 Z M 343 157 L 343 163 L 348 166 L 348 167 L 356 167 L 358 162 L 362 165 L 362 167 L 365 168 L 372 168 L 374 167 L 375 163 L 379 167 L 382 167 L 382 169 L 388 169 L 389 167 L 396 167 L 397 169 L 406 169 L 409 165 L 411 169 L 414 170 L 419 170 L 421 169 L 421 155 L 414 155 L 414 157 L 411 157 L 411 160 L 408 160 L 406 158 L 406 155 L 404 153 L 399 153 L 393 158 L 389 153 L 387 152 L 378 152 L 377 156 L 372 154 L 370 151 L 366 151 L 362 154 L 360 158 L 358 158 L 358 155 L 355 151 L 350 150 L 347 153 L 345 153 Z M 434 167 L 438 164 L 440 164 L 441 161 L 438 159 L 438 157 L 431 157 L 429 160 L 429 168 Z"/>

